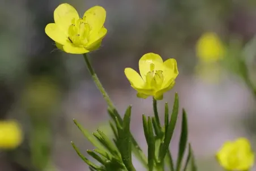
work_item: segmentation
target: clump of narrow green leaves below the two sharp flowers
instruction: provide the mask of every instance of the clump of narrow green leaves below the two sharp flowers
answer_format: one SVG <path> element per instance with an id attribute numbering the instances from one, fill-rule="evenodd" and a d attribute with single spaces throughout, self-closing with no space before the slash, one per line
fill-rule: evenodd
<path id="1" fill-rule="evenodd" d="M 180 171 L 182 169 L 182 160 L 184 159 L 185 149 L 187 147 L 187 118 L 186 112 L 182 110 L 182 130 L 180 136 L 180 144 L 177 156 L 176 166 L 173 164 L 172 155 L 169 150 L 170 140 L 176 126 L 178 117 L 178 94 L 175 95 L 172 115 L 169 118 L 168 103 L 165 104 L 164 125 L 161 126 L 159 115 L 157 112 L 156 100 L 153 100 L 153 117 L 142 116 L 144 135 L 148 145 L 148 157 L 144 155 L 142 149 L 134 139 L 130 132 L 131 106 L 126 109 L 123 119 L 120 117 L 116 109 L 108 109 L 108 113 L 113 121 L 110 121 L 110 127 L 114 133 L 113 141 L 110 140 L 103 131 L 97 130 L 93 134 L 82 128 L 77 121 L 74 120 L 76 126 L 83 132 L 86 138 L 96 147 L 93 151 L 87 150 L 88 155 L 96 159 L 100 165 L 96 165 L 89 161 L 78 148 L 72 143 L 75 151 L 80 158 L 89 165 L 90 170 L 136 170 L 132 163 L 132 153 L 148 170 L 165 170 L 168 166 L 171 171 Z M 189 153 L 186 157 L 184 168 L 187 170 L 189 161 L 191 161 L 191 170 L 197 170 L 195 166 L 194 156 L 189 144 Z"/>

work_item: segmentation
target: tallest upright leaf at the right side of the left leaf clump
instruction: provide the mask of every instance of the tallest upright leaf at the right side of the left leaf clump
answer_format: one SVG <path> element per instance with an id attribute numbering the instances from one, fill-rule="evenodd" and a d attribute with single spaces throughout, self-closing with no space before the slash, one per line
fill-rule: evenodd
<path id="1" fill-rule="evenodd" d="M 130 133 L 130 120 L 131 120 L 131 106 L 129 106 L 123 117 L 123 131 L 119 135 L 118 141 L 120 144 L 120 152 L 122 156 L 123 164 L 131 171 L 135 171 L 133 163 L 131 161 L 131 133 Z"/>

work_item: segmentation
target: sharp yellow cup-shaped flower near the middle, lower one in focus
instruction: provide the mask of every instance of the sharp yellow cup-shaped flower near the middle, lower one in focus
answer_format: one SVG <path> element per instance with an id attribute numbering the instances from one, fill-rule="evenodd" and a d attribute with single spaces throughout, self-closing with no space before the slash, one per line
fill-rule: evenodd
<path id="1" fill-rule="evenodd" d="M 156 100 L 163 99 L 163 93 L 172 89 L 178 75 L 177 62 L 168 59 L 163 62 L 160 55 L 155 53 L 144 54 L 139 59 L 139 71 L 125 69 L 125 75 L 131 87 L 138 91 L 137 96 L 146 99 L 153 96 Z"/>

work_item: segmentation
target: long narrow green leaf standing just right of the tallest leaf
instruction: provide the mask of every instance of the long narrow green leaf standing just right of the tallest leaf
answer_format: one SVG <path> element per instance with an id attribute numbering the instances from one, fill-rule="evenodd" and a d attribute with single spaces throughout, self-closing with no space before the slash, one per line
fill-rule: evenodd
<path id="1" fill-rule="evenodd" d="M 180 136 L 180 144 L 178 149 L 178 159 L 176 164 L 176 170 L 180 171 L 182 159 L 184 157 L 185 149 L 187 145 L 187 116 L 186 112 L 182 110 L 182 125 L 181 125 L 181 136 Z"/>

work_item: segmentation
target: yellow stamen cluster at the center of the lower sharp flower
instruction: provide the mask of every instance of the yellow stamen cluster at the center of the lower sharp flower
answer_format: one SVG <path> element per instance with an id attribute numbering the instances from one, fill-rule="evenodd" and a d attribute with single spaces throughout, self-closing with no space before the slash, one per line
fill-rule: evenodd
<path id="1" fill-rule="evenodd" d="M 164 82 L 163 71 L 157 70 L 155 71 L 155 65 L 153 63 L 150 64 L 150 72 L 146 75 L 146 83 L 148 86 L 152 88 L 159 89 L 161 88 Z"/>

